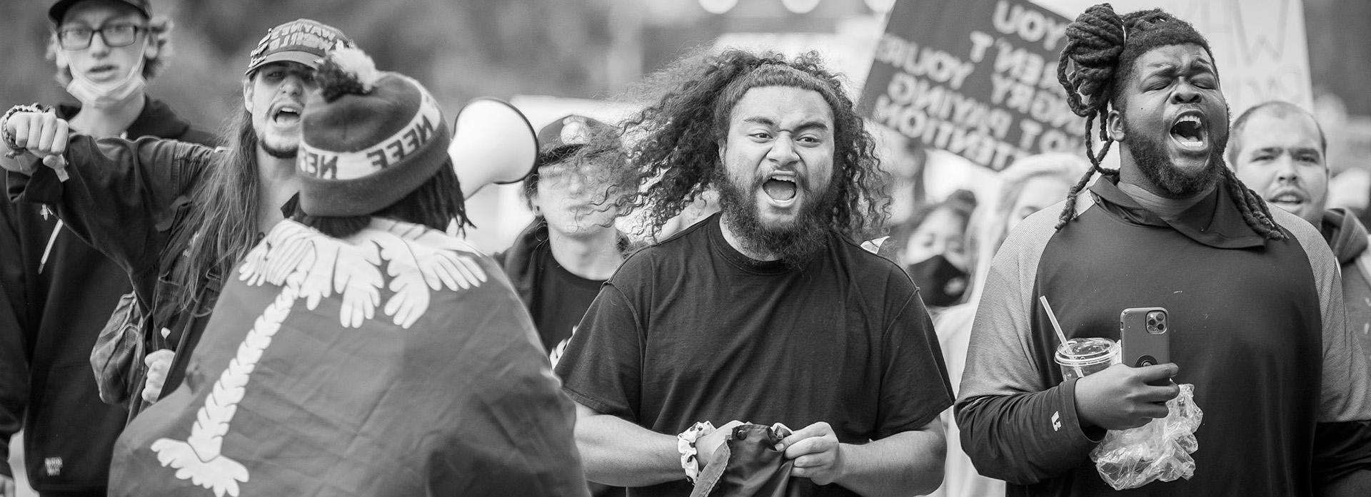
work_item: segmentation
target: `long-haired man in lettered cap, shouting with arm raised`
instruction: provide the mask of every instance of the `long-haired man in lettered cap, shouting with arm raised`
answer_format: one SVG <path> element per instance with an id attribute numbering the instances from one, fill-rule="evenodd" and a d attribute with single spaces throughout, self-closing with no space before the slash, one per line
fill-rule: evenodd
<path id="1" fill-rule="evenodd" d="M 351 44 L 310 19 L 269 30 L 250 55 L 243 110 L 221 149 L 69 134 L 67 120 L 27 108 L 3 119 L 10 197 L 48 205 L 119 264 L 133 282 L 134 315 L 147 318 L 134 320 L 143 326 L 129 340 L 138 351 L 130 364 L 97 371 L 107 378 L 103 400 L 128 403 L 133 416 L 163 383 L 181 381 L 221 281 L 299 190 L 300 114 L 315 66 L 329 48 Z M 171 351 L 186 353 L 173 360 Z"/>

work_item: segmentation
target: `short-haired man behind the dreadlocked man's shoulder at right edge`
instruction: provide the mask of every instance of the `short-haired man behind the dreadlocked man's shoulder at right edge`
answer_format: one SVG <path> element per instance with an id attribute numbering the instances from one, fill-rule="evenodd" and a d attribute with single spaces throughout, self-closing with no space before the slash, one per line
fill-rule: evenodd
<path id="1" fill-rule="evenodd" d="M 1268 204 L 1319 229 L 1342 267 L 1348 329 L 1371 351 L 1371 251 L 1367 230 L 1346 208 L 1326 208 L 1328 142 L 1313 115 L 1296 104 L 1268 101 L 1233 122 L 1228 164 Z"/>

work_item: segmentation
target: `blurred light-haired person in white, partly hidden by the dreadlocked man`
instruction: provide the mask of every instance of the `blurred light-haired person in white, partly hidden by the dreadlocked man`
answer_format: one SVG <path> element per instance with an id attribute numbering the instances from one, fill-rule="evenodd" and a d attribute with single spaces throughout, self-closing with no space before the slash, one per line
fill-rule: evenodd
<path id="1" fill-rule="evenodd" d="M 934 315 L 934 330 L 943 359 L 947 360 L 947 377 L 953 390 L 961 385 L 961 372 L 967 367 L 967 344 L 971 341 L 971 323 L 976 316 L 976 303 L 980 288 L 986 282 L 986 271 L 994 259 L 999 244 L 1019 222 L 1030 214 L 1061 203 L 1061 199 L 1075 185 L 1080 170 L 1090 167 L 1086 159 L 1075 153 L 1041 153 L 1027 156 L 999 171 L 999 190 L 976 208 L 967 246 L 969 256 L 967 270 L 972 274 L 971 285 L 962 304 L 957 304 Z M 942 413 L 947 426 L 947 466 L 943 486 L 934 497 L 976 497 L 1001 496 L 1005 482 L 982 476 L 961 448 L 961 429 L 951 409 Z"/>

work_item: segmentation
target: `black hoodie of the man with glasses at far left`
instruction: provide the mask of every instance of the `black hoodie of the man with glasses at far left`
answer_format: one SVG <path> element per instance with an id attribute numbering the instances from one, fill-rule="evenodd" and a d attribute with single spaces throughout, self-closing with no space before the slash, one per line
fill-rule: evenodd
<path id="1" fill-rule="evenodd" d="M 80 111 L 56 108 L 63 119 Z M 125 134 L 215 141 L 152 99 Z M 10 456 L 22 415 L 36 490 L 100 490 L 128 412 L 100 401 L 90 348 L 132 288 L 119 266 L 58 226 L 43 205 L 0 200 L 0 460 Z M 0 474 L 10 475 L 10 466 L 0 464 Z"/>

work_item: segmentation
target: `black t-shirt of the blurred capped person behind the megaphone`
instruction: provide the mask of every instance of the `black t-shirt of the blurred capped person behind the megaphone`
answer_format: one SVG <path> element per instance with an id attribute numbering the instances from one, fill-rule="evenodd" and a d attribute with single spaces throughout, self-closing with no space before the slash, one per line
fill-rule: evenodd
<path id="1" fill-rule="evenodd" d="M 537 335 L 543 351 L 548 352 L 553 364 L 561 356 L 561 349 L 576 333 L 576 324 L 585 315 L 585 308 L 599 293 L 603 279 L 587 279 L 572 274 L 553 257 L 551 244 L 537 248 L 536 257 L 543 266 L 542 279 L 535 286 L 535 297 L 529 311 L 537 324 Z"/>

